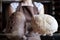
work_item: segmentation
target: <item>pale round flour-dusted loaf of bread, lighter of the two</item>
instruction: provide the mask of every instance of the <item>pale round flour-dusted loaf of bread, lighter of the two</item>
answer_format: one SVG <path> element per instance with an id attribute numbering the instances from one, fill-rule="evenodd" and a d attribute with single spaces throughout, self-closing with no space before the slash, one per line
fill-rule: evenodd
<path id="1" fill-rule="evenodd" d="M 41 35 L 52 35 L 58 29 L 56 19 L 48 14 L 34 15 L 31 20 L 31 26 L 34 32 Z"/>

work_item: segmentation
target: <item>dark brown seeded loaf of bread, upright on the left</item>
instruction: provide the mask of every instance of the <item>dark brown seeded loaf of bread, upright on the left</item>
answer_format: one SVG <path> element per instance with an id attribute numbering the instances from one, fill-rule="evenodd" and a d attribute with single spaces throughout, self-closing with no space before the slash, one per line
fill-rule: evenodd
<path id="1" fill-rule="evenodd" d="M 6 25 L 6 34 L 11 37 L 24 35 L 25 16 L 22 12 L 14 12 L 8 19 Z M 9 37 L 8 35 L 8 37 Z"/>

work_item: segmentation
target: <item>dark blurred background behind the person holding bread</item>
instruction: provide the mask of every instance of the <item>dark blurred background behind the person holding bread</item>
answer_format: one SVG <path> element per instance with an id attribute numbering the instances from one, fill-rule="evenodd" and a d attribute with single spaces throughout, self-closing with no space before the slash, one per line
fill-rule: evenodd
<path id="1" fill-rule="evenodd" d="M 44 5 L 45 14 L 50 14 L 56 18 L 59 28 L 58 31 L 53 35 L 53 37 L 55 38 L 53 40 L 59 40 L 60 39 L 60 0 L 34 0 L 34 1 L 41 2 Z M 12 2 L 19 2 L 19 0 L 2 0 L 2 1 L 0 0 L 0 33 L 2 33 L 2 30 L 6 27 L 7 13 L 5 12 L 5 10 Z M 47 40 L 51 40 L 51 39 L 47 39 Z"/>

